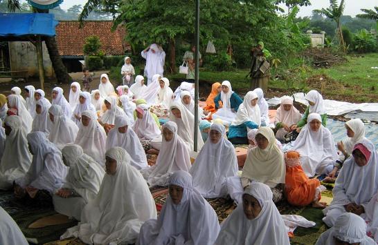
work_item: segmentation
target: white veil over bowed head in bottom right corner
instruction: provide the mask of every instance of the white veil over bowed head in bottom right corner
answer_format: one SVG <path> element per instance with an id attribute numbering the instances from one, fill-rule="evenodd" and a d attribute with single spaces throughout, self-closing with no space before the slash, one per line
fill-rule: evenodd
<path id="1" fill-rule="evenodd" d="M 344 213 L 332 228 L 321 234 L 316 245 L 334 245 L 334 239 L 341 242 L 359 245 L 375 245 L 376 243 L 366 235 L 366 223 L 354 213 Z"/>

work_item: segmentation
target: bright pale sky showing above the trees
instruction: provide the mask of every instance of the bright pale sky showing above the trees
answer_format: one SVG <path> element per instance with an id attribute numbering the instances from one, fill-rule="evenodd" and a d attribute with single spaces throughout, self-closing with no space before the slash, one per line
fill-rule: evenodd
<path id="1" fill-rule="evenodd" d="M 60 5 L 60 8 L 66 10 L 71 8 L 75 4 L 84 5 L 87 0 L 64 0 Z M 312 10 L 327 8 L 330 5 L 329 0 L 312 0 L 312 6 L 301 7 L 297 17 L 306 17 L 312 15 Z M 378 0 L 345 0 L 344 15 L 350 15 L 354 17 L 356 14 L 361 13 L 361 8 L 372 9 L 374 6 L 378 6 Z M 285 5 L 281 6 L 287 11 Z"/>

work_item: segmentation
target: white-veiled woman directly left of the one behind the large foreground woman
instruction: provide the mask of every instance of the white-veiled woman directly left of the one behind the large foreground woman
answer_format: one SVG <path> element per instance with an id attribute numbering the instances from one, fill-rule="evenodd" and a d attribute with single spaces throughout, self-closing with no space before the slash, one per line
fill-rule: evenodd
<path id="1" fill-rule="evenodd" d="M 96 119 L 96 112 L 85 110 L 82 112 L 80 125 L 75 144 L 82 147 L 84 153 L 91 156 L 100 166 L 105 166 L 105 144 L 107 134 Z"/>

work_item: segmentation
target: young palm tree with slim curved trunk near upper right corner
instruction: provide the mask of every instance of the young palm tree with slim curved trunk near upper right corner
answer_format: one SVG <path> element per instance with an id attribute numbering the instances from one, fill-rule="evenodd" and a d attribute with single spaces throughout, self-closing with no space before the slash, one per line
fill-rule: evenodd
<path id="1" fill-rule="evenodd" d="M 330 8 L 322 8 L 321 10 L 314 10 L 314 12 L 318 14 L 324 14 L 326 17 L 333 19 L 336 22 L 337 26 L 337 33 L 336 35 L 339 36 L 340 46 L 345 50 L 345 43 L 343 39 L 343 32 L 341 31 L 341 17 L 343 16 L 345 8 L 345 1 L 341 0 L 340 5 L 337 4 L 337 0 L 330 0 Z"/>

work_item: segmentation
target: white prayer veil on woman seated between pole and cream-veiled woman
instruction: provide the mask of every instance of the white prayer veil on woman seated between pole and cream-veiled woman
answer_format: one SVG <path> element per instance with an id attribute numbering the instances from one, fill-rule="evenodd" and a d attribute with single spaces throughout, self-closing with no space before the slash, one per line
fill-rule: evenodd
<path id="1" fill-rule="evenodd" d="M 190 168 L 195 188 L 208 198 L 226 195 L 226 178 L 236 176 L 238 170 L 235 148 L 226 138 L 224 126 L 213 124 L 211 130 L 222 137 L 216 144 L 208 139 Z"/>

